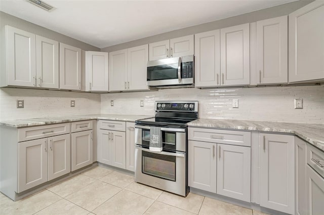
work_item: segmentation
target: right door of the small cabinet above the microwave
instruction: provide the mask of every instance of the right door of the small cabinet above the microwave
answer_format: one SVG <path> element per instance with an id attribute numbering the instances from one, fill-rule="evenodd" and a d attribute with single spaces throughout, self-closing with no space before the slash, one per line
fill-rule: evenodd
<path id="1" fill-rule="evenodd" d="M 193 35 L 170 39 L 170 58 L 194 54 Z"/>

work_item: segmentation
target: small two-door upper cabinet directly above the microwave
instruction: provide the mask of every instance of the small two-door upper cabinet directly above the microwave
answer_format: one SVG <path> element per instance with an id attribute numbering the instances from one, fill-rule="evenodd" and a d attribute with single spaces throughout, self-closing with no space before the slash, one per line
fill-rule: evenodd
<path id="1" fill-rule="evenodd" d="M 149 43 L 150 61 L 193 54 L 193 35 Z"/>

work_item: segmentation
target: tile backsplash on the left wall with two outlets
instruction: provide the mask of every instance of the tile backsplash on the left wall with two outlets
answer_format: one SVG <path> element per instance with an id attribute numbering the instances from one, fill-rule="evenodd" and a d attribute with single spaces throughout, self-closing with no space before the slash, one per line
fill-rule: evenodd
<path id="1" fill-rule="evenodd" d="M 23 109 L 16 108 L 17 100 L 24 100 Z M 71 100 L 75 100 L 74 108 L 70 106 Z M 0 88 L 0 120 L 99 113 L 100 94 Z"/>

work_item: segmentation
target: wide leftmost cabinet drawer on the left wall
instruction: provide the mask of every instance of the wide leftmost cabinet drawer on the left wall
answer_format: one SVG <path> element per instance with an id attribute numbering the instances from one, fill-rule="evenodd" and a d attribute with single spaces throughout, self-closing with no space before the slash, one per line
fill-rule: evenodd
<path id="1" fill-rule="evenodd" d="M 70 133 L 70 123 L 18 129 L 18 142 Z"/>

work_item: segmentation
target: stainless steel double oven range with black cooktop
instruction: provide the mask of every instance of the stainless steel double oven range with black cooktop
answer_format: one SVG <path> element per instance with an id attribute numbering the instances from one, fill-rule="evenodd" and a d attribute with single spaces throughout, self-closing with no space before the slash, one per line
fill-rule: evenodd
<path id="1" fill-rule="evenodd" d="M 187 123 L 198 118 L 198 101 L 156 101 L 155 118 L 135 122 L 135 181 L 186 196 Z M 150 129 L 160 128 L 163 148 L 151 151 Z"/>

